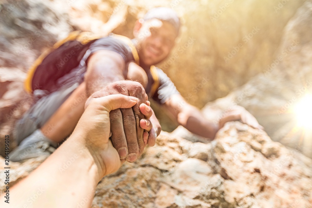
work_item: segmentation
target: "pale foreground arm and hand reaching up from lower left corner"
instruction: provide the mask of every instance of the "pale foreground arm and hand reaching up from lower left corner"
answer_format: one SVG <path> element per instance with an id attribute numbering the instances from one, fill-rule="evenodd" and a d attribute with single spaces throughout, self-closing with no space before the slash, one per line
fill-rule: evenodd
<path id="1" fill-rule="evenodd" d="M 90 207 L 100 179 L 117 171 L 125 161 L 109 139 L 109 112 L 131 108 L 137 101 L 124 95 L 93 99 L 72 135 L 12 187 L 7 207 Z M 5 204 L 4 200 L 1 203 Z"/>

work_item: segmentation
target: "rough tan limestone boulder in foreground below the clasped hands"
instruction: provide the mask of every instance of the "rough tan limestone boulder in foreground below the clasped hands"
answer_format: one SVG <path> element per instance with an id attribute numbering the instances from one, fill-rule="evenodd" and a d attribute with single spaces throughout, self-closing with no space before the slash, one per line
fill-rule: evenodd
<path id="1" fill-rule="evenodd" d="M 11 163 L 10 184 L 43 159 Z M 238 121 L 206 144 L 162 131 L 138 161 L 100 181 L 92 207 L 310 208 L 311 166 L 310 158 Z"/>

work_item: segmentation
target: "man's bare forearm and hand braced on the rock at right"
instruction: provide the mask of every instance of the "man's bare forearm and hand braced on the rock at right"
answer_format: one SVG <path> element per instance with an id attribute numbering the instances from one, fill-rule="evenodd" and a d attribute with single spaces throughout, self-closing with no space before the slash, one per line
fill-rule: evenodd
<path id="1" fill-rule="evenodd" d="M 211 140 L 215 138 L 217 131 L 228 121 L 240 120 L 254 128 L 263 129 L 256 118 L 241 106 L 233 107 L 218 124 L 205 119 L 202 113 L 195 106 L 188 104 L 180 94 L 172 95 L 164 103 L 164 107 L 180 125 L 199 136 L 210 138 Z"/>

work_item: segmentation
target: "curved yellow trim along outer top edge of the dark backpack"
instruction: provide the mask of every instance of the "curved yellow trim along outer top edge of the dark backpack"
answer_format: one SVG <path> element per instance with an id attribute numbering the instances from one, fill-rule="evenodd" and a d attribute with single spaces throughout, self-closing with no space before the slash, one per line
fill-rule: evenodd
<path id="1" fill-rule="evenodd" d="M 32 77 L 34 76 L 34 73 L 35 73 L 37 67 L 42 63 L 43 59 L 46 58 L 46 56 L 49 55 L 52 51 L 54 51 L 55 49 L 57 49 L 58 47 L 60 47 L 61 45 L 63 45 L 64 43 L 66 43 L 68 41 L 77 40 L 81 44 L 85 45 L 88 42 L 95 40 L 95 39 L 99 39 L 101 37 L 102 36 L 95 35 L 92 32 L 73 31 L 73 32 L 69 33 L 69 35 L 66 38 L 56 42 L 52 48 L 43 52 L 36 59 L 36 61 L 32 64 L 32 66 L 29 68 L 27 78 L 24 82 L 24 87 L 25 87 L 26 92 L 32 93 Z"/>

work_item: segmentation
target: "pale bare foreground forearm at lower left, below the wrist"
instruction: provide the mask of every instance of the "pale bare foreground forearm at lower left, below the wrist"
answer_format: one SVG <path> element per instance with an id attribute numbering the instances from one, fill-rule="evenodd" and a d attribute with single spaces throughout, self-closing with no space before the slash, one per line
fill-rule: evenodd
<path id="1" fill-rule="evenodd" d="M 98 167 L 81 138 L 70 137 L 30 176 L 12 187 L 11 205 L 90 207 L 97 176 Z M 33 196 L 38 198 L 31 200 Z"/>

